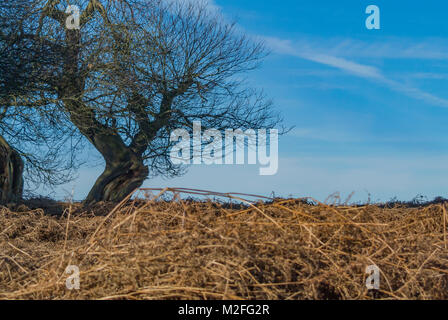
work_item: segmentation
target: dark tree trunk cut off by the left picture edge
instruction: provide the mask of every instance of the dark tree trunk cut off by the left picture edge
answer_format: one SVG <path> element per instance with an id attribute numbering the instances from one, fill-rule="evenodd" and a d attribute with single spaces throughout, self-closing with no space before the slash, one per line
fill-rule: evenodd
<path id="1" fill-rule="evenodd" d="M 0 204 L 18 202 L 23 194 L 23 161 L 0 136 Z"/>

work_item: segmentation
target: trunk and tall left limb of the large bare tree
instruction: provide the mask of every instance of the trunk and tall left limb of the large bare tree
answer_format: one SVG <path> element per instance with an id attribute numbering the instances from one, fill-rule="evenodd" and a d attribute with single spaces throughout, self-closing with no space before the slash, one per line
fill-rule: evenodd
<path id="1" fill-rule="evenodd" d="M 96 119 L 95 109 L 82 102 L 86 76 L 78 70 L 81 34 L 79 30 L 66 32 L 68 54 L 65 57 L 59 97 L 64 101 L 72 123 L 103 156 L 106 168 L 97 179 L 85 200 L 91 205 L 97 202 L 120 202 L 139 188 L 149 175 L 142 153 L 127 146 L 117 130 Z"/>

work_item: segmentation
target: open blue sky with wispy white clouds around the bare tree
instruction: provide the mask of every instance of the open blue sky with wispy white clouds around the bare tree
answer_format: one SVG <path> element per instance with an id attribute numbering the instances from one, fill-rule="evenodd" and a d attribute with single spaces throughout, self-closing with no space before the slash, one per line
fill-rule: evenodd
<path id="1" fill-rule="evenodd" d="M 368 5 L 381 30 L 365 27 Z M 319 200 L 333 192 L 365 201 L 448 196 L 448 3 L 362 0 L 215 0 L 211 3 L 271 55 L 249 75 L 288 125 L 279 172 L 257 166 L 194 166 L 146 187 Z M 82 199 L 102 167 L 84 168 L 58 192 Z"/>

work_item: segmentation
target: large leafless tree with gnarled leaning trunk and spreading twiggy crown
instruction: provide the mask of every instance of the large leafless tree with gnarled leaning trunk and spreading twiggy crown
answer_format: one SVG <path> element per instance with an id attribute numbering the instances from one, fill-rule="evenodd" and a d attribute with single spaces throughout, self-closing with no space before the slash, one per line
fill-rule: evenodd
<path id="1" fill-rule="evenodd" d="M 67 28 L 68 5 L 80 29 Z M 203 4 L 162 0 L 47 0 L 39 37 L 63 61 L 47 82 L 106 168 L 86 201 L 119 201 L 148 176 L 182 172 L 170 134 L 192 127 L 274 127 L 280 118 L 245 74 L 265 50 Z"/>

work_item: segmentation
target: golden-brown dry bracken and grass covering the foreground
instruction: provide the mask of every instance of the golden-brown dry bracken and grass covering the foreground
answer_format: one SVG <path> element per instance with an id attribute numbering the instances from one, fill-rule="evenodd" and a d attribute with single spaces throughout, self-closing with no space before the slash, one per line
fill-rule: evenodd
<path id="1" fill-rule="evenodd" d="M 107 216 L 15 211 L 0 211 L 0 299 L 448 299 L 444 204 L 159 198 Z M 365 285 L 373 264 L 379 291 Z M 78 291 L 65 287 L 68 265 Z"/>

